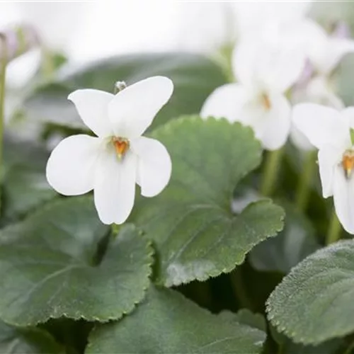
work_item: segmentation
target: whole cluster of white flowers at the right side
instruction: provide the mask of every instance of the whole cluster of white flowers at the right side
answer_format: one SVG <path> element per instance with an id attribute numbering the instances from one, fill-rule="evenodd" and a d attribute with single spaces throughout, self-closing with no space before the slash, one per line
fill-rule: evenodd
<path id="1" fill-rule="evenodd" d="M 251 126 L 267 150 L 289 136 L 299 149 L 319 149 L 323 196 L 333 195 L 338 219 L 354 234 L 354 108 L 342 110 L 333 85 L 341 58 L 354 52 L 347 32 L 338 23 L 326 33 L 303 13 L 241 31 L 232 53 L 236 82 L 212 92 L 200 114 Z"/>

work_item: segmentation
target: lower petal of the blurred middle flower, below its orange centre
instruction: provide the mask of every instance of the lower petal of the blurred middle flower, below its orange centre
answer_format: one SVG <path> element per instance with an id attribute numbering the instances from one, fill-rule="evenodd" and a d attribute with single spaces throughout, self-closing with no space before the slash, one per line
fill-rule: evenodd
<path id="1" fill-rule="evenodd" d="M 278 94 L 268 95 L 270 108 L 262 105 L 261 96 L 253 98 L 241 110 L 239 121 L 253 128 L 265 149 L 276 150 L 287 141 L 290 132 L 290 104 Z"/>

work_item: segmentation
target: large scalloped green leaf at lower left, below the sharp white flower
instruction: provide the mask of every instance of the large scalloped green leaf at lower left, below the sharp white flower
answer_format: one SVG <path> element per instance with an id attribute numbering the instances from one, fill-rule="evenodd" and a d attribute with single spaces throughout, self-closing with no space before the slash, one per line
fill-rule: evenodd
<path id="1" fill-rule="evenodd" d="M 149 285 L 152 249 L 127 226 L 99 263 L 108 236 L 87 197 L 54 202 L 4 229 L 1 319 L 27 326 L 61 316 L 108 321 L 132 311 Z"/>

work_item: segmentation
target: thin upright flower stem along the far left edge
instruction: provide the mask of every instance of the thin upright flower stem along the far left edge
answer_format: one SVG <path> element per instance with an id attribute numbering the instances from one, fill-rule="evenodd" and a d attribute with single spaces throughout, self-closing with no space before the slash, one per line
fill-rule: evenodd
<path id="1" fill-rule="evenodd" d="M 7 64 L 7 40 L 6 36 L 0 33 L 0 181 L 3 180 L 3 144 L 4 144 L 4 115 L 5 115 L 5 79 L 6 79 L 6 64 Z M 1 198 L 1 189 L 0 189 Z M 0 205 L 1 207 L 1 205 Z"/>

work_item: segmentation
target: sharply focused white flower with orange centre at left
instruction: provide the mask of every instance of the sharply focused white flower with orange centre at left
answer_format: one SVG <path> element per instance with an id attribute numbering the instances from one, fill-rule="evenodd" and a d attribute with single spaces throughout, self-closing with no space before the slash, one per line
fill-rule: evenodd
<path id="1" fill-rule="evenodd" d="M 69 95 L 84 123 L 98 136 L 62 140 L 47 163 L 47 180 L 63 195 L 94 191 L 104 224 L 122 224 L 132 211 L 135 183 L 145 197 L 165 188 L 171 159 L 163 144 L 142 137 L 173 91 L 170 79 L 154 76 L 115 96 L 93 89 Z"/>

